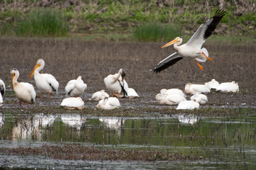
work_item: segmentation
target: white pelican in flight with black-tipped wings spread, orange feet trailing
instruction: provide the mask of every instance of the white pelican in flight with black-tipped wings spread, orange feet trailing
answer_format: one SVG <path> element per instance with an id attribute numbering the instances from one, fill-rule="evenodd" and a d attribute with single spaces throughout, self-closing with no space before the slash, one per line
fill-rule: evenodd
<path id="1" fill-rule="evenodd" d="M 210 37 L 210 35 L 213 33 L 223 16 L 225 16 L 225 11 L 217 10 L 214 16 L 210 18 L 210 20 L 206 21 L 206 23 L 203 23 L 198 28 L 196 33 L 193 34 L 191 39 L 188 40 L 186 44 L 181 45 L 182 38 L 177 37 L 164 45 L 162 48 L 174 44 L 174 49 L 176 52 L 159 62 L 159 64 L 157 64 L 154 68 L 154 72 L 161 72 L 162 70 L 170 67 L 183 58 L 194 59 L 197 64 L 198 62 L 205 62 L 206 60 L 212 61 L 212 59 L 208 57 L 208 51 L 206 48 L 201 49 L 201 47 L 203 42 L 205 42 L 207 38 Z M 198 64 L 198 67 L 203 71 L 203 67 L 200 64 Z"/>

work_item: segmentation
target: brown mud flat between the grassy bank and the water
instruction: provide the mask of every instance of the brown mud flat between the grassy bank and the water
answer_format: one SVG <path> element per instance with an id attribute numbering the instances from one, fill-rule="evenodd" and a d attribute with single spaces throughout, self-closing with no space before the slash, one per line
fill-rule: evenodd
<path id="1" fill-rule="evenodd" d="M 20 72 L 18 81 L 29 82 L 36 88 L 28 75 L 36 61 L 45 60 L 46 65 L 41 73 L 50 73 L 59 81 L 58 94 L 51 94 L 40 98 L 37 91 L 36 104 L 30 105 L 28 112 L 59 111 L 68 112 L 60 108 L 60 103 L 65 98 L 65 85 L 70 79 L 82 80 L 87 84 L 87 90 L 82 95 L 85 101 L 85 113 L 96 109 L 97 101 L 90 101 L 95 91 L 106 89 L 103 79 L 108 74 L 117 73 L 123 68 L 127 73 L 126 80 L 139 94 L 139 98 L 121 98 L 120 102 L 124 111 L 138 108 L 166 109 L 176 106 L 161 106 L 155 101 L 156 94 L 161 89 L 178 88 L 191 82 L 204 84 L 211 79 L 219 83 L 237 81 L 240 86 L 238 93 L 220 93 L 213 91 L 208 96 L 208 103 L 202 107 L 211 108 L 255 108 L 256 106 L 256 59 L 255 44 L 241 45 L 225 44 L 225 42 L 206 42 L 206 49 L 213 62 L 202 63 L 204 71 L 193 60 L 181 60 L 174 66 L 160 72 L 152 70 L 161 60 L 174 52 L 173 47 L 161 49 L 164 43 L 159 42 L 111 42 L 104 40 L 54 40 L 54 39 L 26 39 L 2 38 L 0 39 L 1 74 L 6 84 L 4 106 L 1 110 L 20 111 L 18 100 L 11 91 L 10 69 L 16 68 Z M 107 90 L 106 90 L 107 91 Z M 187 96 L 189 99 L 190 96 Z M 26 104 L 23 103 L 23 108 Z M 83 111 L 81 111 L 83 112 Z"/>

